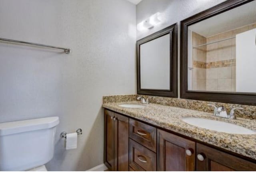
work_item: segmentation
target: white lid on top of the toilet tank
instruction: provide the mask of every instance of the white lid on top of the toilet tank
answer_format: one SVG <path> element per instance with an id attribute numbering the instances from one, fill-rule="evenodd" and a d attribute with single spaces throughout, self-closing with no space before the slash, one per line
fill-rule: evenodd
<path id="1" fill-rule="evenodd" d="M 47 117 L 0 123 L 0 136 L 33 130 L 50 129 L 58 125 L 59 122 L 59 117 Z"/>

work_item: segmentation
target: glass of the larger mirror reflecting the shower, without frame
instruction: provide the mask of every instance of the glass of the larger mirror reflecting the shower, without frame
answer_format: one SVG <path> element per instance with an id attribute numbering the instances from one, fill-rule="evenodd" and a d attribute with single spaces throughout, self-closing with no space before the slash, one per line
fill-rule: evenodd
<path id="1" fill-rule="evenodd" d="M 256 93 L 256 0 L 188 26 L 188 90 Z"/>

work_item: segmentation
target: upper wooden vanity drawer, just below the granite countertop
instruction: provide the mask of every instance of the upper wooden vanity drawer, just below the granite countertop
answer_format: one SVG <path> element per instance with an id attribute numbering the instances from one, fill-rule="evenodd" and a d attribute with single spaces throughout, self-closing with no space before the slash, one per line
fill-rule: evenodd
<path id="1" fill-rule="evenodd" d="M 156 128 L 130 119 L 129 136 L 146 148 L 156 152 Z"/>

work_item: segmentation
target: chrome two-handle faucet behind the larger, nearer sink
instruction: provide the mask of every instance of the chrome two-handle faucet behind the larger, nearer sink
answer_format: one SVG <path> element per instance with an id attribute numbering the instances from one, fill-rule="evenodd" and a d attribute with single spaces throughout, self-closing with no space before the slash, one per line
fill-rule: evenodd
<path id="1" fill-rule="evenodd" d="M 236 109 L 244 109 L 242 107 L 235 107 L 235 108 L 231 109 L 230 114 L 228 115 L 224 106 L 217 107 L 217 106 L 211 105 L 211 104 L 208 104 L 208 105 L 214 107 L 214 113 L 213 113 L 214 116 L 228 118 L 228 119 L 236 119 L 236 115 L 234 113 L 235 110 Z"/>

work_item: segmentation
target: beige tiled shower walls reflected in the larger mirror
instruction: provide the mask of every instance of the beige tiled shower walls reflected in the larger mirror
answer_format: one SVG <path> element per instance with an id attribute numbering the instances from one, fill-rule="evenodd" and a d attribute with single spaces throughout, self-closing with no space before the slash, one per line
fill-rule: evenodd
<path id="1" fill-rule="evenodd" d="M 236 34 L 246 32 L 256 28 L 256 24 L 251 24 L 249 26 L 244 26 L 235 30 L 217 34 L 205 38 L 196 33 L 192 33 L 193 45 L 202 44 L 202 40 L 206 40 L 206 43 L 213 42 L 216 40 L 222 40 L 225 38 L 230 38 L 236 36 Z M 200 53 L 194 53 L 200 52 Z M 205 51 L 202 53 L 201 51 Z M 198 57 L 195 57 L 197 55 Z M 203 57 L 205 55 L 205 57 Z M 195 59 L 203 59 L 205 65 L 201 65 L 202 68 L 198 70 L 198 61 Z M 193 49 L 193 81 L 195 77 L 198 78 L 200 75 L 204 75 L 205 86 L 202 82 L 199 84 L 192 84 L 193 90 L 207 90 L 207 91 L 236 91 L 236 39 L 230 39 L 218 43 L 209 44 L 200 49 Z M 197 66 L 197 67 L 196 67 Z M 206 66 L 206 67 L 204 67 Z M 200 67 L 200 66 L 199 66 Z M 199 71 L 203 74 L 199 74 Z M 206 73 L 206 74 L 204 74 Z"/>

